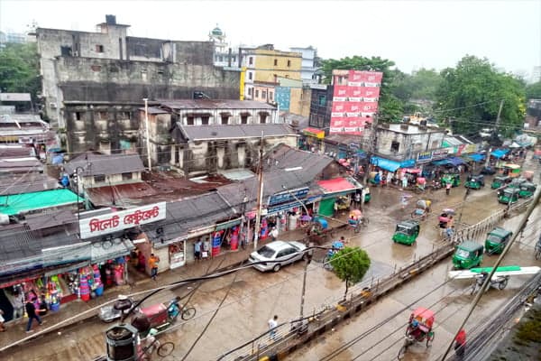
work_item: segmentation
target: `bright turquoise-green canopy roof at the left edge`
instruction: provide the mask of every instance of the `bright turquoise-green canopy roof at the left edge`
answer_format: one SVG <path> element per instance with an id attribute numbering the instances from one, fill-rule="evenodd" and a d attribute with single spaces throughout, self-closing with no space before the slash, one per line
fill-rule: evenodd
<path id="1" fill-rule="evenodd" d="M 0 213 L 13 216 L 36 209 L 59 207 L 83 201 L 71 190 L 41 190 L 37 192 L 0 196 Z"/>

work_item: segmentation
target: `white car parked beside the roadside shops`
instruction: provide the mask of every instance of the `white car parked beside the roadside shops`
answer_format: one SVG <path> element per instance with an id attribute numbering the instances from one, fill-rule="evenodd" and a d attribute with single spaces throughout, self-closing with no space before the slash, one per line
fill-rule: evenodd
<path id="1" fill-rule="evenodd" d="M 253 264 L 253 267 L 265 271 L 280 271 L 282 265 L 292 264 L 301 259 L 306 259 L 307 253 L 303 252 L 307 248 L 300 242 L 285 242 L 285 241 L 273 241 L 268 245 L 263 245 L 259 250 L 252 252 L 250 255 L 250 262 L 261 264 Z M 267 261 L 265 263 L 265 261 Z M 275 262 L 271 262 L 275 261 Z"/>

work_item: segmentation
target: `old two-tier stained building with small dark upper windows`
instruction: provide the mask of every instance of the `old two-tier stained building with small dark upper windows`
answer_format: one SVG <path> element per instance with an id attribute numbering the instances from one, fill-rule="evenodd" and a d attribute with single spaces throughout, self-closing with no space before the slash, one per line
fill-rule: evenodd
<path id="1" fill-rule="evenodd" d="M 144 117 L 145 109 L 140 111 Z M 148 119 L 152 164 L 186 177 L 252 166 L 261 135 L 265 151 L 276 143 L 297 144 L 289 125 L 277 124 L 276 108 L 253 100 L 163 101 L 148 108 Z M 143 153 L 146 132 L 142 124 Z"/>

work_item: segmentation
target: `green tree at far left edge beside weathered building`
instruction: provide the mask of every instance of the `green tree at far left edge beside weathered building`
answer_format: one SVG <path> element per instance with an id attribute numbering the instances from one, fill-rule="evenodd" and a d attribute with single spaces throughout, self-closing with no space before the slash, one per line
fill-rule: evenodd
<path id="1" fill-rule="evenodd" d="M 30 93 L 34 103 L 41 92 L 40 62 L 35 42 L 8 43 L 0 51 L 0 90 Z"/>

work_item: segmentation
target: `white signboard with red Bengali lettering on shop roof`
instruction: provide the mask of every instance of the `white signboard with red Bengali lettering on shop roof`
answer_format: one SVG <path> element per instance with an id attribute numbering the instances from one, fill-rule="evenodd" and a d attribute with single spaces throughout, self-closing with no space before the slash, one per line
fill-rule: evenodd
<path id="1" fill-rule="evenodd" d="M 81 238 L 102 236 L 165 219 L 165 202 L 79 220 Z"/>

